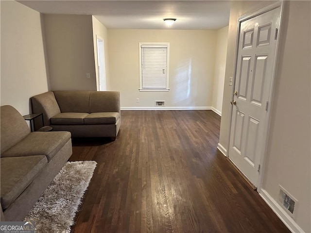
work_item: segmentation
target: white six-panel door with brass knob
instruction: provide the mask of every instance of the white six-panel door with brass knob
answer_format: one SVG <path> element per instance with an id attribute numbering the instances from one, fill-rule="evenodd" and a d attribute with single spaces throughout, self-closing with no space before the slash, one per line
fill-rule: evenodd
<path id="1" fill-rule="evenodd" d="M 279 17 L 280 7 L 242 21 L 239 31 L 228 157 L 256 187 L 265 150 Z"/>

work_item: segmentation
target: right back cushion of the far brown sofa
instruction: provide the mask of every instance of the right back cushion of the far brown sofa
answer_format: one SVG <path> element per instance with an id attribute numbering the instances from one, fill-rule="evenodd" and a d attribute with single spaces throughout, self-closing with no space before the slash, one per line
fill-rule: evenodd
<path id="1" fill-rule="evenodd" d="M 90 112 L 120 113 L 120 92 L 119 91 L 91 91 Z"/>

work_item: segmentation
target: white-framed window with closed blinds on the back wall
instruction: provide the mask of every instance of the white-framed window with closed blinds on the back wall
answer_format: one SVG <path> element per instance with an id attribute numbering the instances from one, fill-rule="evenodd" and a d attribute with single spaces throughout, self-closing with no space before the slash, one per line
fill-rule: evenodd
<path id="1" fill-rule="evenodd" d="M 169 91 L 170 43 L 139 43 L 139 91 Z"/>

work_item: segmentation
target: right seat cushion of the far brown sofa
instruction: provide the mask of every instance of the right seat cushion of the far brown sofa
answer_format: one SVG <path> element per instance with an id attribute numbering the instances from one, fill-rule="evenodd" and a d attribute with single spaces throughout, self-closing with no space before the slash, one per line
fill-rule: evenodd
<path id="1" fill-rule="evenodd" d="M 119 118 L 119 113 L 91 113 L 84 118 L 84 123 L 87 125 L 115 124 Z"/>

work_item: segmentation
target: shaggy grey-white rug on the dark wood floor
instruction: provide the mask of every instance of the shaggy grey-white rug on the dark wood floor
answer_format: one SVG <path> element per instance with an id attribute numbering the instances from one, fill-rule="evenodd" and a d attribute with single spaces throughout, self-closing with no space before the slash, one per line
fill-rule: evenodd
<path id="1" fill-rule="evenodd" d="M 70 233 L 96 164 L 77 161 L 63 166 L 25 217 L 25 221 L 35 222 L 36 233 Z"/>

